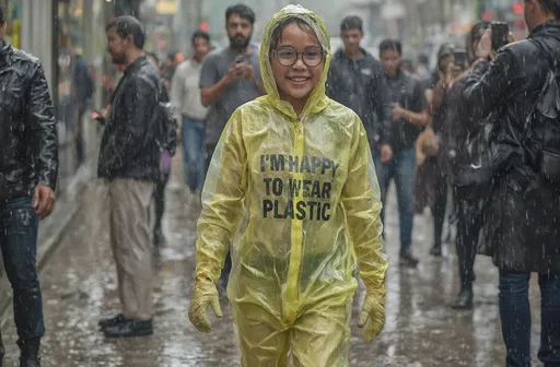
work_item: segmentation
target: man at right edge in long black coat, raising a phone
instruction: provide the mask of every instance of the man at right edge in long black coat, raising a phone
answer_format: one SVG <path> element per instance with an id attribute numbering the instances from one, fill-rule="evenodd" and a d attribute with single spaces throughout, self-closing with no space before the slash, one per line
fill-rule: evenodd
<path id="1" fill-rule="evenodd" d="M 560 0 L 525 0 L 524 4 L 528 39 L 501 48 L 489 62 L 492 43 L 487 31 L 463 97 L 472 121 L 499 108 L 497 143 L 508 155 L 508 165 L 495 175 L 497 189 L 485 221 L 490 229 L 485 236 L 488 254 L 500 270 L 506 366 L 530 366 L 527 293 L 532 272 L 539 274 L 541 293 L 538 356 L 545 366 L 560 366 L 560 194 L 529 163 L 524 144 L 527 132 L 540 133 L 527 129 L 526 121 L 552 67 L 548 59 L 560 59 Z M 553 68 L 558 74 L 559 67 Z"/>

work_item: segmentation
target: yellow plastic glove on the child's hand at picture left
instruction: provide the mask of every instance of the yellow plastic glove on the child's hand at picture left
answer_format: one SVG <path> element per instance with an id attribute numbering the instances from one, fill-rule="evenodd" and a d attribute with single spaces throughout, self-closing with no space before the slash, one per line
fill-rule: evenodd
<path id="1" fill-rule="evenodd" d="M 212 307 L 212 311 L 218 318 L 223 317 L 215 284 L 211 281 L 197 281 L 190 298 L 188 319 L 201 332 L 212 330 L 212 324 L 208 319 L 208 306 Z"/>

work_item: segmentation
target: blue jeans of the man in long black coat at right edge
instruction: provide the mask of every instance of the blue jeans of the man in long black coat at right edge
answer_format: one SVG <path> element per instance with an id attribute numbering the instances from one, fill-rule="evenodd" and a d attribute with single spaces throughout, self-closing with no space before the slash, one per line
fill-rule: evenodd
<path id="1" fill-rule="evenodd" d="M 500 271 L 500 318 L 506 367 L 530 366 L 530 273 Z M 545 367 L 560 366 L 560 273 L 539 274 L 540 350 Z"/>

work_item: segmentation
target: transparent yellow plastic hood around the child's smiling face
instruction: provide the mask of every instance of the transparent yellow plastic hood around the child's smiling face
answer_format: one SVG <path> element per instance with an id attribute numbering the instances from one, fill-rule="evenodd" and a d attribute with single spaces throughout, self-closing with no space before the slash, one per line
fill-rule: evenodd
<path id="1" fill-rule="evenodd" d="M 327 25 L 325 22 L 323 22 L 323 20 L 318 17 L 314 12 L 304 9 L 301 5 L 288 5 L 276 13 L 268 22 L 265 28 L 265 33 L 262 34 L 262 43 L 260 45 L 260 70 L 262 74 L 262 82 L 265 83 L 265 88 L 268 93 L 265 98 L 267 98 L 269 103 L 271 103 L 283 114 L 295 117 L 295 111 L 293 110 L 292 106 L 288 102 L 280 99 L 275 76 L 272 74 L 272 66 L 270 63 L 270 44 L 272 33 L 278 27 L 278 25 L 288 17 L 298 17 L 308 24 L 310 27 L 315 32 L 320 46 L 327 54 L 320 81 L 312 91 L 303 109 L 302 116 L 317 114 L 324 110 L 329 104 L 329 99 L 325 94 L 325 84 L 330 64 L 330 35 L 328 34 Z"/>

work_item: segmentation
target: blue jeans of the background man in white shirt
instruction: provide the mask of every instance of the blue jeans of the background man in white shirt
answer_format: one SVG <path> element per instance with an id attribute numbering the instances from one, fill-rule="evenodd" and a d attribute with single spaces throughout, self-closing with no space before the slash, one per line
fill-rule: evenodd
<path id="1" fill-rule="evenodd" d="M 183 116 L 183 167 L 191 191 L 205 186 L 205 121 Z"/>

